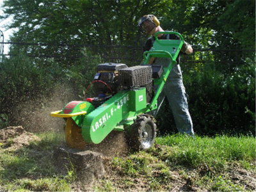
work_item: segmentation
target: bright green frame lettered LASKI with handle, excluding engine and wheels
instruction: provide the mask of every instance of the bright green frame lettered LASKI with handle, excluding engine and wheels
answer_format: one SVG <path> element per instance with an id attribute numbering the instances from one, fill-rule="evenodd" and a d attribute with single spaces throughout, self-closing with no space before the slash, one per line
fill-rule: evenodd
<path id="1" fill-rule="evenodd" d="M 159 40 L 157 34 L 176 34 L 180 40 Z M 99 144 L 113 129 L 118 131 L 129 129 L 137 115 L 156 110 L 157 98 L 173 65 L 177 63 L 176 59 L 184 40 L 179 33 L 173 31 L 157 32 L 155 38 L 151 50 L 143 54 L 145 59 L 143 64 L 148 64 L 151 57 L 170 58 L 170 64 L 163 68 L 160 78 L 154 79 L 154 84 L 158 85 L 158 88 L 149 104 L 146 99 L 146 88 L 134 87 L 117 92 L 98 108 L 94 108 L 92 103 L 87 101 L 71 101 L 63 110 L 52 112 L 52 117 L 63 117 L 63 119 L 71 117 L 82 129 L 82 137 L 86 143 Z"/>

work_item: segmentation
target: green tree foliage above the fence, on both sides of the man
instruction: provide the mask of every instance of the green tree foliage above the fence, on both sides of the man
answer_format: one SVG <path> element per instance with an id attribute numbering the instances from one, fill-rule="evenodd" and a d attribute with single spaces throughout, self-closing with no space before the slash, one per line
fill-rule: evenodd
<path id="1" fill-rule="evenodd" d="M 195 47 L 255 48 L 252 0 L 8 0 L 3 6 L 1 18 L 13 15 L 8 27 L 19 29 L 12 41 L 131 45 L 141 33 L 139 18 L 154 14 Z"/>

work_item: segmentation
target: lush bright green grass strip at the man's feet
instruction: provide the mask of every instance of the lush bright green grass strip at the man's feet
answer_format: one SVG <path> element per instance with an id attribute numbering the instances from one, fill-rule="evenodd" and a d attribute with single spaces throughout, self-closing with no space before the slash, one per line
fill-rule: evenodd
<path id="1" fill-rule="evenodd" d="M 191 138 L 178 134 L 158 137 L 156 143 L 170 146 L 169 152 L 162 158 L 180 165 L 193 167 L 205 165 L 222 169 L 227 163 L 239 161 L 246 168 L 250 168 L 246 162 L 256 159 L 256 140 L 252 136 L 217 135 L 216 137 Z"/>

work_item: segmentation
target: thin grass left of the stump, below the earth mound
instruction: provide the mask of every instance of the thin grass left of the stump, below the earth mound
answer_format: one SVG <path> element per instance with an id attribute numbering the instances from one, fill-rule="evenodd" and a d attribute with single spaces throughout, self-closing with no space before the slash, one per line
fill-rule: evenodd
<path id="1" fill-rule="evenodd" d="M 17 151 L 0 147 L 0 191 L 70 191 L 67 177 L 59 177 L 51 158 L 63 135 L 42 133 L 40 142 Z"/>

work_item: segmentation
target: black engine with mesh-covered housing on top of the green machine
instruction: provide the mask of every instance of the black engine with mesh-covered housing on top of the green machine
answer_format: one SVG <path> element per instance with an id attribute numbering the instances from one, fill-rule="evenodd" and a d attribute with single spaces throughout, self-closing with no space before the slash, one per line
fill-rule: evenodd
<path id="1" fill-rule="evenodd" d="M 147 103 L 154 96 L 152 66 L 127 67 L 122 63 L 103 63 L 97 66 L 93 91 L 95 98 L 90 98 L 95 107 L 99 107 L 116 92 L 133 87 L 146 87 Z"/>

